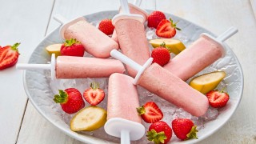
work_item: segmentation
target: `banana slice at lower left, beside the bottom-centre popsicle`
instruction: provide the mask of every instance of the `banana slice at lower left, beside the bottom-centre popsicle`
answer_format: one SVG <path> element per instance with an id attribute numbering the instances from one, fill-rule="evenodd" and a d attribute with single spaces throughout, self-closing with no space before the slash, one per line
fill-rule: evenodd
<path id="1" fill-rule="evenodd" d="M 98 106 L 88 106 L 75 114 L 70 122 L 73 131 L 92 131 L 104 126 L 106 110 Z"/>

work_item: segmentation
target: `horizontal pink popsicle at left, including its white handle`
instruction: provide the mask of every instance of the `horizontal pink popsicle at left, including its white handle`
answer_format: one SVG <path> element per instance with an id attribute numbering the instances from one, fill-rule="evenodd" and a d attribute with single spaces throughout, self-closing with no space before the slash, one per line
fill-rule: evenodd
<path id="1" fill-rule="evenodd" d="M 20 70 L 50 70 L 51 78 L 107 78 L 125 71 L 122 62 L 115 59 L 55 56 L 50 64 L 17 64 Z"/>

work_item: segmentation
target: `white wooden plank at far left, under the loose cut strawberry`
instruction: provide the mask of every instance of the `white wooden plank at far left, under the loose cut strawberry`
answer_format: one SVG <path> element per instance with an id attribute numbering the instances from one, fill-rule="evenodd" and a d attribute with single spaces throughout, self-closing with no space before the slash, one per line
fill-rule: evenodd
<path id="1" fill-rule="evenodd" d="M 46 33 L 53 2 L 0 1 L 0 46 L 21 42 L 18 62 L 28 60 L 34 47 Z M 0 77 L 0 143 L 15 143 L 27 102 L 22 83 L 22 70 L 15 70 L 15 67 L 1 70 Z"/>

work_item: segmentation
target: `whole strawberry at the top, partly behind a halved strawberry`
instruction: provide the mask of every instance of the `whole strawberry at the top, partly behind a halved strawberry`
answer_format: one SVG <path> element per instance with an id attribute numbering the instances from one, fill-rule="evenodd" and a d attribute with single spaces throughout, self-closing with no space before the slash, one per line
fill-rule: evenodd
<path id="1" fill-rule="evenodd" d="M 147 26 L 154 27 L 156 29 L 162 19 L 166 19 L 165 14 L 163 14 L 161 11 L 153 11 L 147 18 Z"/>

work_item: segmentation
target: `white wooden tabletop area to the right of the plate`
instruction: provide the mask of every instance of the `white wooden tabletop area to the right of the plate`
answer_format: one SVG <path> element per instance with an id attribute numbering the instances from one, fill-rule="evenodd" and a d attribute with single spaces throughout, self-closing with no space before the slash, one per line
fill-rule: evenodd
<path id="1" fill-rule="evenodd" d="M 256 81 L 256 22 L 250 1 L 161 0 L 158 1 L 157 10 L 185 18 L 214 34 L 221 34 L 230 26 L 238 28 L 238 34 L 226 43 L 242 65 L 245 78 L 242 102 L 222 129 L 199 143 L 256 143 L 256 93 L 253 84 Z"/>

